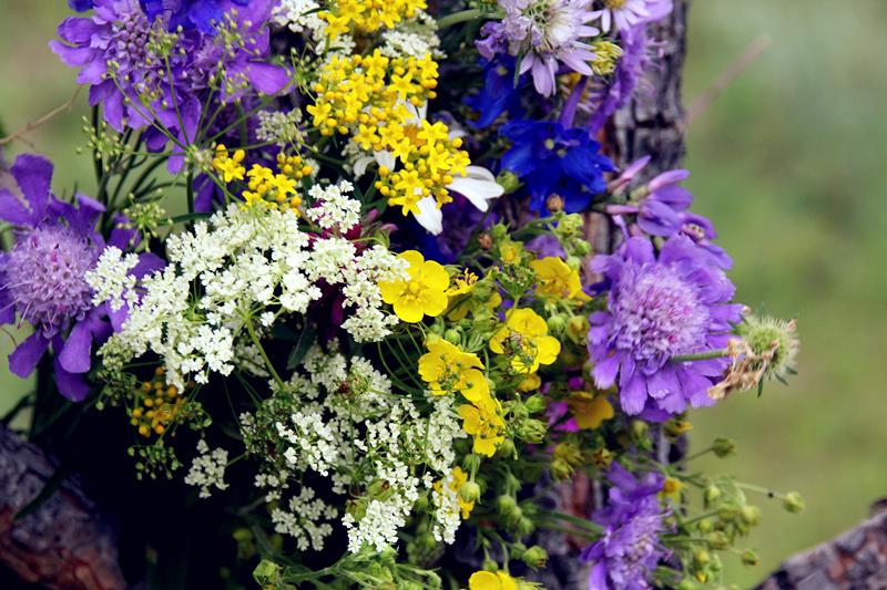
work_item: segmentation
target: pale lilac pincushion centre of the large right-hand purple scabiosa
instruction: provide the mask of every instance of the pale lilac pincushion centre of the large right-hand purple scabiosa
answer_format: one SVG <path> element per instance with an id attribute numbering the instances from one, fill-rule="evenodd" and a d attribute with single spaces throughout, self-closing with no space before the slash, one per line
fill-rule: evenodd
<path id="1" fill-rule="evenodd" d="M 708 309 L 672 267 L 626 262 L 611 297 L 615 345 L 636 361 L 664 363 L 704 348 Z"/>

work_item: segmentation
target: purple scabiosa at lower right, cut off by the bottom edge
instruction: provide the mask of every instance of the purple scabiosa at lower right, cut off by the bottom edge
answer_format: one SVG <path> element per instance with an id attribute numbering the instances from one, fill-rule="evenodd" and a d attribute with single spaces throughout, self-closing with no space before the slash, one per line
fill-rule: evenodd
<path id="1" fill-rule="evenodd" d="M 660 540 L 665 532 L 667 509 L 660 506 L 661 474 L 648 473 L 636 479 L 619 463 L 608 473 L 613 484 L 606 507 L 593 520 L 603 527 L 602 537 L 582 551 L 592 565 L 589 590 L 646 590 L 653 588 L 652 572 L 669 557 Z"/>

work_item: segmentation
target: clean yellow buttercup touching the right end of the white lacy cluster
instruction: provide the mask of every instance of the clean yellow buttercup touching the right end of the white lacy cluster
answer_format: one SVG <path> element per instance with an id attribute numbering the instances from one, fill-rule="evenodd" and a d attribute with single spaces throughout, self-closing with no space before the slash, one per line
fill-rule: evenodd
<path id="1" fill-rule="evenodd" d="M 443 313 L 449 302 L 446 291 L 450 276 L 447 269 L 434 260 L 426 260 L 416 250 L 408 250 L 400 258 L 409 262 L 409 279 L 380 282 L 383 301 L 394 306 L 395 314 L 409 323 L 420 322 L 425 315 L 436 318 Z"/>

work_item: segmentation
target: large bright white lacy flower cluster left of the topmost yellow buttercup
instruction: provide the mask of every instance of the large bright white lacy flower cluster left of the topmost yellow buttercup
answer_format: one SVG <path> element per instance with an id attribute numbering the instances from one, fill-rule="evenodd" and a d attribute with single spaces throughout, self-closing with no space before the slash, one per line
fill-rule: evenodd
<path id="1" fill-rule="evenodd" d="M 359 203 L 348 190 L 340 184 L 324 192 L 333 203 L 324 219 L 351 222 Z M 402 278 L 404 261 L 381 246 L 358 252 L 336 236 L 312 241 L 289 211 L 231 205 L 192 231 L 170 236 L 166 251 L 167 267 L 142 280 L 139 300 L 125 273 L 134 260 L 119 250 L 103 253 L 101 272 L 91 275 L 96 298 L 128 299 L 123 330 L 101 350 L 106 366 L 152 351 L 180 389 L 187 379 L 207 382 L 211 372 L 228 375 L 249 338 L 247 323 L 269 327 L 281 313 L 305 313 L 323 296 L 322 281 L 343 289 L 350 311 L 343 328 L 357 342 L 378 341 L 397 323 L 383 311 L 378 282 Z M 256 360 L 245 359 L 247 365 Z"/>

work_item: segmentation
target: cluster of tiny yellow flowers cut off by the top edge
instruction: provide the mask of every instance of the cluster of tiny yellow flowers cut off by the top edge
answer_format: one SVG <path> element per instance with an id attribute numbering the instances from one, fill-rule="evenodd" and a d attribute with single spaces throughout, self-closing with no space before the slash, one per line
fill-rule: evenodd
<path id="1" fill-rule="evenodd" d="M 417 10 L 425 10 L 425 0 L 335 0 L 328 2 L 329 10 L 317 15 L 326 21 L 326 34 L 335 39 L 354 27 L 363 33 L 378 31 L 383 27 L 394 29 L 395 24 L 410 19 Z"/>

